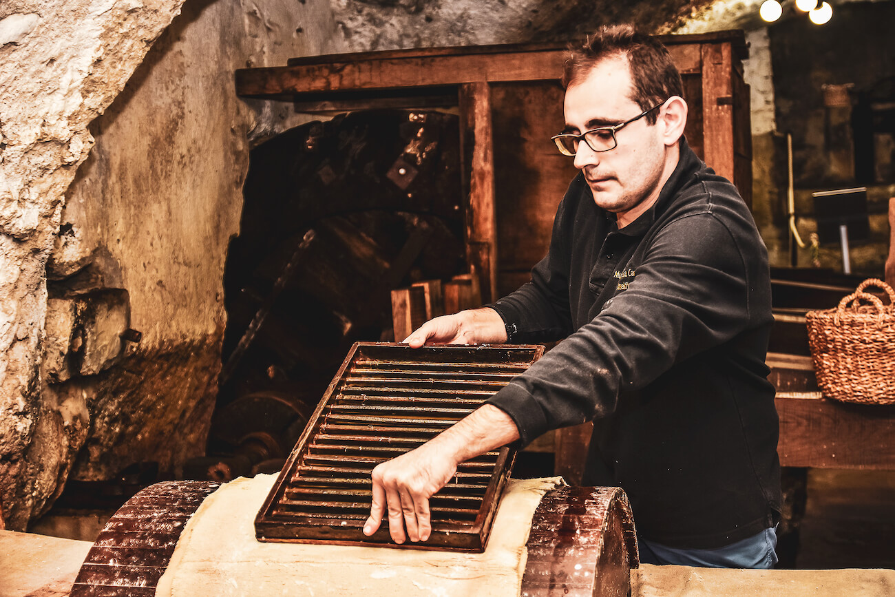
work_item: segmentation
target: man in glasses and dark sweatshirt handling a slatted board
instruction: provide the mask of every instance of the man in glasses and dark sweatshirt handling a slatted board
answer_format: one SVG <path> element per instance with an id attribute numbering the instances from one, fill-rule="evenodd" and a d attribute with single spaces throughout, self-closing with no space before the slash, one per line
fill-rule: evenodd
<path id="1" fill-rule="evenodd" d="M 660 43 L 601 29 L 567 63 L 567 131 L 581 171 L 532 281 L 406 341 L 566 339 L 487 404 L 374 469 L 371 517 L 425 541 L 429 498 L 467 458 L 594 420 L 585 485 L 631 501 L 644 562 L 771 567 L 778 420 L 764 365 L 767 252 L 736 188 L 683 137 L 687 107 Z"/>

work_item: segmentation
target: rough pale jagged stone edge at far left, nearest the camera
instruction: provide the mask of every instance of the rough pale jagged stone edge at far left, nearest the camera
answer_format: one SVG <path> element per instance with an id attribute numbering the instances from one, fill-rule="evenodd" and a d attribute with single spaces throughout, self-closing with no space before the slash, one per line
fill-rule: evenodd
<path id="1" fill-rule="evenodd" d="M 12 0 L 0 7 L 0 501 L 12 528 L 46 497 L 25 453 L 47 428 L 38 364 L 45 267 L 64 192 L 93 144 L 88 124 L 181 4 Z M 70 427 L 81 437 L 86 422 Z"/>

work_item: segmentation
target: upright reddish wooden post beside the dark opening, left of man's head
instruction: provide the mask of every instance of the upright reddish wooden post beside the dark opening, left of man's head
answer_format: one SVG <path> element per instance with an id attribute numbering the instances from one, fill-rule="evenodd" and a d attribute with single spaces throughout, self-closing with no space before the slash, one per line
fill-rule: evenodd
<path id="1" fill-rule="evenodd" d="M 466 203 L 466 261 L 479 277 L 482 302 L 497 295 L 497 217 L 494 200 L 494 152 L 491 93 L 486 81 L 460 85 L 461 151 Z"/>

